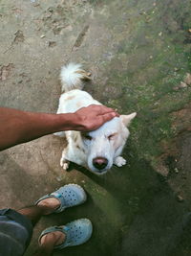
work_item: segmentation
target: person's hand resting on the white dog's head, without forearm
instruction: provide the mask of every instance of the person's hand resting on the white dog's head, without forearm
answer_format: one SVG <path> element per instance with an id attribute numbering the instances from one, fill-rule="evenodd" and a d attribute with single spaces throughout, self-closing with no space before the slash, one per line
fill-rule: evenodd
<path id="1" fill-rule="evenodd" d="M 72 124 L 74 130 L 90 131 L 101 127 L 119 114 L 105 105 L 89 105 L 74 112 Z"/>

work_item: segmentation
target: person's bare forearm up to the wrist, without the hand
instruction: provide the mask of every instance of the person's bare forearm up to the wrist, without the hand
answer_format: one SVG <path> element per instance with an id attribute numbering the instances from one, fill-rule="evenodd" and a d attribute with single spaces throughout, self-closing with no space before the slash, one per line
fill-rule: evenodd
<path id="1" fill-rule="evenodd" d="M 0 150 L 41 136 L 71 129 L 74 114 L 46 114 L 0 108 Z"/>

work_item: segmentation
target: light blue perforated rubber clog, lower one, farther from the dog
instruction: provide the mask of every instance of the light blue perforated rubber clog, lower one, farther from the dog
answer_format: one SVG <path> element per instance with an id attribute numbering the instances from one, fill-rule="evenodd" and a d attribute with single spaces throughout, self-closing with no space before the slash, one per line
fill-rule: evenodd
<path id="1" fill-rule="evenodd" d="M 67 246 L 86 243 L 92 236 L 93 225 L 88 219 L 79 219 L 62 226 L 51 226 L 42 231 L 38 243 L 40 244 L 41 238 L 44 235 L 55 231 L 63 232 L 66 235 L 66 239 L 63 244 L 55 245 L 53 249 L 63 249 Z"/>

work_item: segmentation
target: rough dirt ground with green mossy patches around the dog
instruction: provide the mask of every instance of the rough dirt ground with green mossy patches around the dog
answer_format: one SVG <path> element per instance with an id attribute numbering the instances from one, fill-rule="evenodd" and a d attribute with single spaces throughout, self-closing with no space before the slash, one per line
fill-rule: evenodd
<path id="1" fill-rule="evenodd" d="M 120 113 L 138 112 L 128 164 L 96 176 L 63 172 L 65 141 L 45 136 L 0 153 L 0 207 L 18 209 L 69 182 L 84 205 L 43 218 L 45 227 L 89 218 L 87 243 L 53 255 L 188 256 L 191 249 L 191 4 L 189 0 L 1 0 L 0 105 L 55 112 L 59 71 L 92 73 L 87 91 Z"/>

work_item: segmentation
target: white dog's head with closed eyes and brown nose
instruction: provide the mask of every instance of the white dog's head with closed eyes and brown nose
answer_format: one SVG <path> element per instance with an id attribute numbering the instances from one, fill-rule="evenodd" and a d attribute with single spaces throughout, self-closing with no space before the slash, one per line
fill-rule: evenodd
<path id="1" fill-rule="evenodd" d="M 82 134 L 82 140 L 88 149 L 87 165 L 96 175 L 106 173 L 114 159 L 122 151 L 130 134 L 127 128 L 137 113 L 120 115 L 100 128 Z"/>

